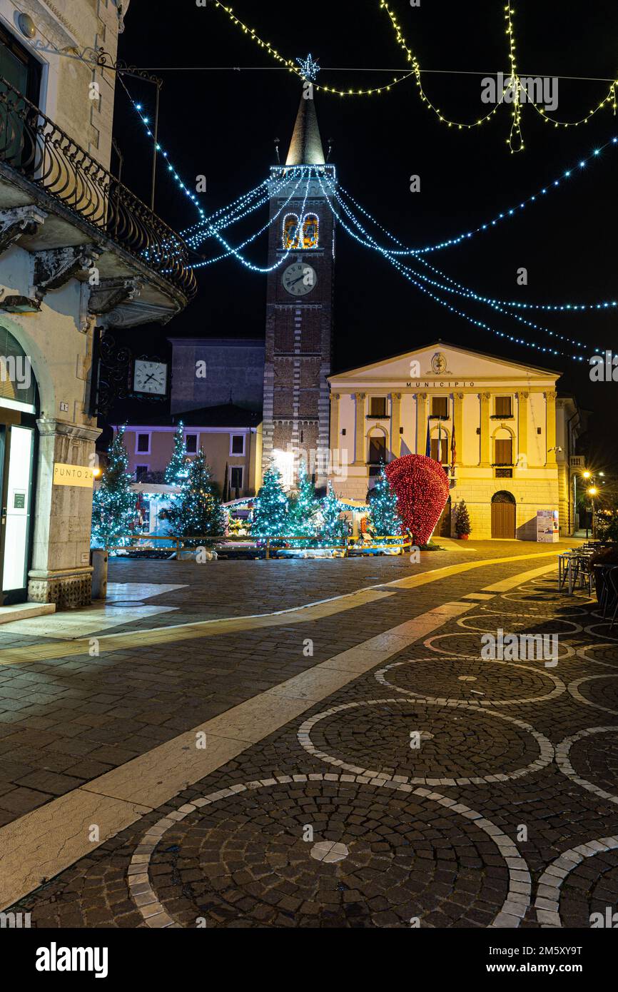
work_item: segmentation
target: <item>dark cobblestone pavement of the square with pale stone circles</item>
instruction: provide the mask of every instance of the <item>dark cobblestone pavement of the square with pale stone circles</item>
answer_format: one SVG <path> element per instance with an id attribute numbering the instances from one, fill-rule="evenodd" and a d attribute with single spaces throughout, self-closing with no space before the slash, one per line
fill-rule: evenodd
<path id="1" fill-rule="evenodd" d="M 359 563 L 377 582 L 403 575 L 399 559 Z M 4 735 L 0 761 L 6 768 L 16 748 L 43 749 L 46 762 L 64 754 L 70 762 L 48 770 L 47 791 L 43 779 L 12 784 L 53 798 L 57 780 L 81 783 L 402 618 L 533 566 L 391 587 L 369 605 L 274 632 L 71 658 L 67 670 L 59 660 L 45 684 L 69 686 L 56 719 L 76 726 L 66 739 L 87 750 L 46 744 L 60 735 L 55 722 L 9 748 Z M 618 631 L 584 592 L 557 594 L 554 573 L 513 585 L 470 599 L 405 650 L 394 644 L 386 661 L 274 733 L 255 743 L 248 734 L 233 760 L 12 909 L 38 928 L 587 928 L 590 914 L 615 912 Z M 557 664 L 485 660 L 483 634 L 499 628 L 556 634 Z M 37 666 L 6 671 L 21 678 Z"/>

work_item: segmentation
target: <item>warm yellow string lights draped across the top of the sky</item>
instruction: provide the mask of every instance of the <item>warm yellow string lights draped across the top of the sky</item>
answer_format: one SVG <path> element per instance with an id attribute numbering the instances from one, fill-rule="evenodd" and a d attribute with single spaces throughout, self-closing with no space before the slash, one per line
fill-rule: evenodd
<path id="1" fill-rule="evenodd" d="M 306 61 L 293 60 L 283 56 L 278 50 L 271 45 L 270 42 L 264 41 L 263 38 L 258 35 L 254 28 L 248 27 L 239 17 L 236 16 L 232 7 L 226 6 L 221 3 L 220 0 L 214 0 L 214 6 L 223 11 L 230 22 L 234 24 L 239 30 L 247 35 L 259 48 L 264 49 L 276 62 L 278 62 L 283 68 L 287 68 L 290 72 L 295 72 L 301 78 L 309 80 L 313 85 L 314 89 L 319 90 L 324 93 L 328 93 L 335 96 L 373 96 L 382 93 L 390 92 L 396 85 L 400 82 L 404 82 L 406 79 L 414 79 L 417 91 L 421 101 L 427 106 L 429 110 L 433 112 L 437 120 L 441 124 L 445 124 L 449 128 L 455 128 L 456 130 L 470 130 L 472 128 L 480 127 L 487 121 L 491 120 L 498 112 L 501 106 L 508 104 L 511 105 L 511 128 L 509 137 L 507 138 L 507 144 L 511 152 L 520 152 L 524 149 L 524 138 L 522 134 L 522 107 L 527 103 L 531 103 L 537 113 L 541 116 L 542 120 L 546 124 L 553 125 L 556 128 L 567 128 L 567 127 L 578 127 L 581 124 L 587 124 L 588 121 L 596 114 L 599 110 L 603 108 L 611 108 L 616 113 L 617 98 L 616 98 L 616 87 L 618 86 L 618 77 L 611 80 L 606 93 L 602 98 L 591 106 L 580 118 L 572 121 L 558 120 L 552 114 L 548 113 L 545 106 L 541 106 L 534 100 L 529 100 L 526 82 L 524 80 L 527 77 L 522 76 L 518 69 L 517 62 L 517 40 L 515 32 L 515 10 L 511 3 L 511 0 L 507 0 L 504 6 L 504 20 L 505 20 L 505 34 L 508 39 L 508 60 L 509 60 L 509 75 L 506 78 L 505 85 L 502 88 L 501 94 L 496 94 L 496 102 L 494 106 L 486 114 L 482 116 L 477 116 L 474 120 L 463 121 L 463 120 L 453 120 L 447 114 L 442 112 L 442 110 L 433 103 L 433 100 L 428 96 L 424 85 L 423 85 L 423 70 L 421 68 L 420 62 L 415 56 L 414 52 L 410 48 L 406 37 L 403 33 L 403 29 L 399 20 L 386 2 L 386 0 L 378 0 L 378 7 L 383 11 L 389 19 L 393 32 L 395 34 L 395 41 L 398 47 L 404 53 L 406 62 L 409 64 L 409 68 L 403 69 L 397 72 L 393 78 L 384 85 L 377 86 L 349 86 L 345 89 L 339 88 L 337 86 L 326 85 L 325 83 L 315 82 L 315 76 L 319 69 L 317 62 L 310 59 Z"/>

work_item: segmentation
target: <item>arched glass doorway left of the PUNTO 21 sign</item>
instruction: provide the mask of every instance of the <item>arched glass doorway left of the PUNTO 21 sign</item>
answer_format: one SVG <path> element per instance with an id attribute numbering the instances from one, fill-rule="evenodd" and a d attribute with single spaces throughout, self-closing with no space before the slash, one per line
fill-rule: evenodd
<path id="1" fill-rule="evenodd" d="M 30 359 L 0 324 L 0 605 L 27 597 L 38 390 Z"/>

